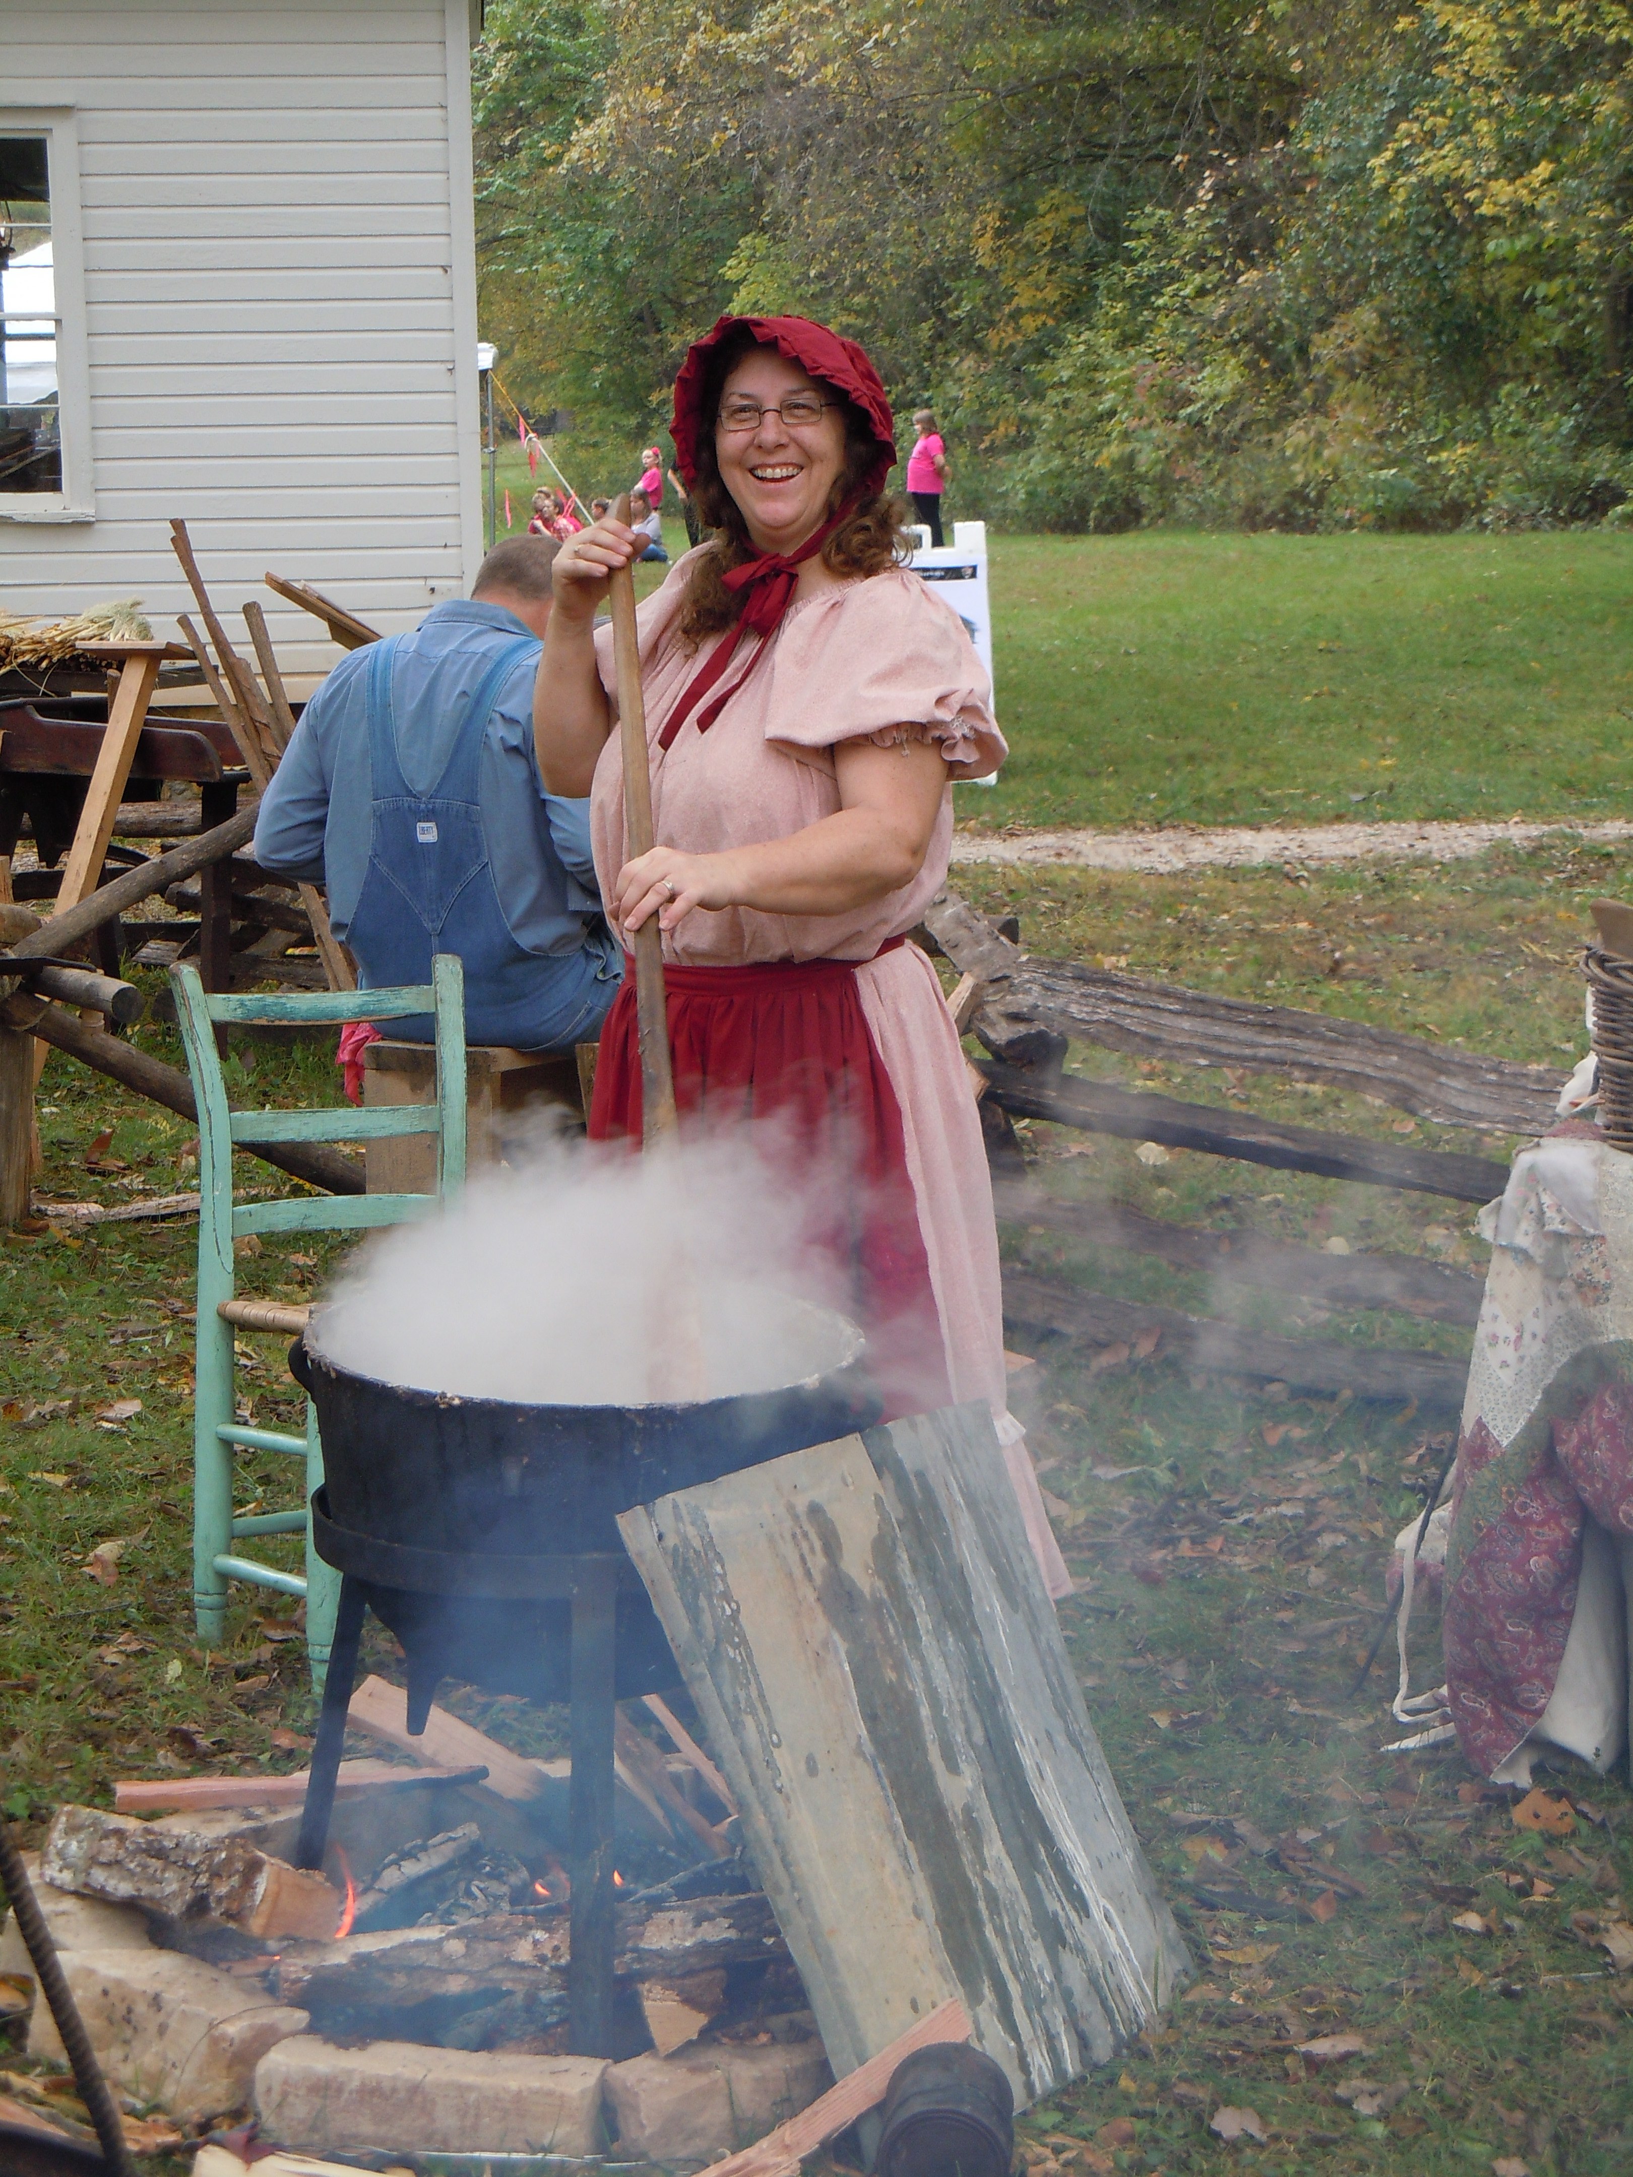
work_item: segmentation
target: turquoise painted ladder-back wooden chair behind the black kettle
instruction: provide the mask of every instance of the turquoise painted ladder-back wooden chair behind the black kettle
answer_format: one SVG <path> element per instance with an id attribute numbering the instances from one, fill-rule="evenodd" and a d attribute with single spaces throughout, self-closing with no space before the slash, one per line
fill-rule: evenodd
<path id="1" fill-rule="evenodd" d="M 438 954 L 431 982 L 394 991 L 316 991 L 290 997 L 220 997 L 205 991 L 194 967 L 174 967 L 176 1019 L 187 1047 L 187 1069 L 198 1099 L 198 1324 L 194 1367 L 194 1611 L 198 1639 L 220 1648 L 226 1639 L 231 1581 L 303 1596 L 307 1657 L 322 1685 L 340 1602 L 340 1574 L 311 1548 L 311 1491 L 322 1487 L 318 1415 L 307 1400 L 305 1437 L 250 1428 L 237 1419 L 233 1339 L 237 1328 L 279 1328 L 268 1304 L 237 1297 L 233 1241 L 250 1232 L 359 1232 L 368 1226 L 422 1217 L 457 1193 L 466 1176 L 466 1032 L 464 969 L 453 954 Z M 270 1021 L 396 1021 L 431 1014 L 435 1023 L 438 1093 L 433 1104 L 392 1104 L 357 1110 L 351 1104 L 320 1110 L 229 1110 L 218 1023 Z M 381 1141 L 392 1134 L 435 1134 L 433 1193 L 401 1195 L 281 1195 L 233 1202 L 233 1147 L 272 1141 Z M 266 1169 L 266 1167 L 263 1167 Z M 300 1511 L 233 1515 L 233 1452 L 287 1452 L 305 1463 Z M 279 1572 L 237 1546 L 255 1535 L 305 1535 L 305 1578 Z"/>

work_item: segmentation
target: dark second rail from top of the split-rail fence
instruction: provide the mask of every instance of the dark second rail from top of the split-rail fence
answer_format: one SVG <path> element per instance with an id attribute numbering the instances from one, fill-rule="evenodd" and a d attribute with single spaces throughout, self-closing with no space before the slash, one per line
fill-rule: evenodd
<path id="1" fill-rule="evenodd" d="M 1171 1095 L 1115 1088 L 1110 1082 L 1043 1082 L 1023 1067 L 984 1065 L 986 1095 L 1021 1119 L 1054 1119 L 1091 1134 L 1124 1141 L 1161 1141 L 1169 1149 L 1237 1156 L 1276 1171 L 1317 1171 L 1328 1180 L 1365 1180 L 1409 1193 L 1450 1195 L 1454 1202 L 1491 1202 L 1509 1184 L 1509 1167 L 1487 1156 L 1446 1149 L 1402 1149 L 1361 1134 L 1324 1134 L 1313 1126 L 1285 1126 L 1217 1104 L 1180 1104 Z"/>

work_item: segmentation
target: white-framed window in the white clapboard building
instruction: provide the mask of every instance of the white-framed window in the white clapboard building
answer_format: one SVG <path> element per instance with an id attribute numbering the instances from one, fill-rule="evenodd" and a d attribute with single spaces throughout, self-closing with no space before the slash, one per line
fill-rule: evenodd
<path id="1" fill-rule="evenodd" d="M 89 514 L 72 113 L 0 104 L 0 518 Z"/>

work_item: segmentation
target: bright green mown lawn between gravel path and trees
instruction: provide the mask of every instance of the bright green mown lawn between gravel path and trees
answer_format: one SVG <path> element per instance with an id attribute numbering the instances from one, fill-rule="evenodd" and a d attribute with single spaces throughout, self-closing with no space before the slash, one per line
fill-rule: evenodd
<path id="1" fill-rule="evenodd" d="M 1633 538 L 995 538 L 982 825 L 1622 816 Z"/>

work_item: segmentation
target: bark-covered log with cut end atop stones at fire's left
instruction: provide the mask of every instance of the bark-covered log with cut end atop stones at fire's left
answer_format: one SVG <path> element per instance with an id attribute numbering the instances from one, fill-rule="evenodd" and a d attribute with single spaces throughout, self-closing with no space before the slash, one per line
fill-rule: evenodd
<path id="1" fill-rule="evenodd" d="M 59 1807 L 41 1874 L 76 1896 L 142 1905 L 170 1920 L 224 1920 L 248 1935 L 333 1935 L 340 1898 L 244 1837 L 196 1835 L 100 1807 Z"/>

